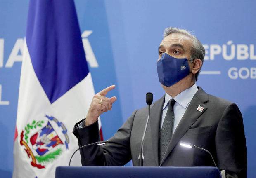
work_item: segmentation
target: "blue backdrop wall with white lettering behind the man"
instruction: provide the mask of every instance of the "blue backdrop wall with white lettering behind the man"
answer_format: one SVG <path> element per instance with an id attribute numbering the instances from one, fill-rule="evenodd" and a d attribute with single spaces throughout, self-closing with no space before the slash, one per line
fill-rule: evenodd
<path id="1" fill-rule="evenodd" d="M 237 103 L 247 138 L 247 177 L 256 176 L 256 2 L 232 0 L 75 0 L 81 33 L 95 56 L 89 62 L 95 92 L 116 84 L 113 110 L 102 114 L 110 138 L 145 93 L 164 94 L 156 72 L 166 27 L 194 31 L 206 49 L 197 82 L 207 93 Z M 11 177 L 19 77 L 28 0 L 0 0 L 0 175 Z M 91 31 L 91 32 L 88 32 Z"/>

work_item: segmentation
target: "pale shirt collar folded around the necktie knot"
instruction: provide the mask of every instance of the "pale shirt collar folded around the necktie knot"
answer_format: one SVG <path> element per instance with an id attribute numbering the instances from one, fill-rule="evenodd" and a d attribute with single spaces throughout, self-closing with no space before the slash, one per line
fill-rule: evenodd
<path id="1" fill-rule="evenodd" d="M 192 87 L 185 89 L 180 94 L 175 96 L 174 99 L 175 99 L 176 103 L 181 105 L 183 108 L 187 108 L 187 106 L 190 103 L 190 101 L 192 100 L 194 94 L 197 93 L 197 90 L 198 90 L 197 84 L 194 84 L 194 85 L 192 85 Z M 165 93 L 165 101 L 164 101 L 163 110 L 166 107 L 166 105 L 168 104 L 168 102 L 170 101 L 170 99 L 173 99 L 173 97 L 171 97 L 170 95 Z"/>

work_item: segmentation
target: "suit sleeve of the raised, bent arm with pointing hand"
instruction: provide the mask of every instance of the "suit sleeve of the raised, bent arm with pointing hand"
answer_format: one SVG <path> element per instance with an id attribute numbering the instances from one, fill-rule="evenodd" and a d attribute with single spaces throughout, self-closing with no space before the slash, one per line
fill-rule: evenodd
<path id="1" fill-rule="evenodd" d="M 123 166 L 131 159 L 130 133 L 137 110 L 126 120 L 123 126 L 103 146 L 92 145 L 80 149 L 83 166 Z M 83 119 L 84 120 L 84 119 Z M 83 120 L 81 122 L 83 122 Z M 73 134 L 78 138 L 79 147 L 100 141 L 98 122 L 78 128 L 78 122 Z"/>

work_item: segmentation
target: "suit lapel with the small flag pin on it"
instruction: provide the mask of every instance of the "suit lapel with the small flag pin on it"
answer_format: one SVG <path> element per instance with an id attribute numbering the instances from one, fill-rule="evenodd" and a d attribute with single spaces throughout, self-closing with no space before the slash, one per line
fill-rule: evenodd
<path id="1" fill-rule="evenodd" d="M 175 145 L 179 143 L 180 139 L 184 136 L 187 130 L 194 124 L 194 122 L 196 122 L 196 120 L 201 116 L 201 114 L 203 114 L 204 111 L 207 109 L 207 106 L 204 105 L 206 101 L 208 101 L 208 95 L 203 91 L 203 89 L 201 89 L 201 87 L 199 87 L 197 93 L 192 98 L 190 104 L 187 107 L 186 112 L 184 113 L 182 119 L 180 120 L 180 123 L 175 129 L 173 136 L 171 137 L 171 141 L 167 147 L 166 153 L 164 155 L 164 158 L 161 164 L 164 162 L 166 157 L 173 150 Z M 199 105 L 201 105 L 204 108 L 202 112 L 197 110 L 197 107 Z"/>

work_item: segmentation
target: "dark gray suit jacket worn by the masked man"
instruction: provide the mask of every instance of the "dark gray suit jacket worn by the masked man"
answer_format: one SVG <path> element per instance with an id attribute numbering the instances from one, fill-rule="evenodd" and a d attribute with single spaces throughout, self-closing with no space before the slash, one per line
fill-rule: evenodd
<path id="1" fill-rule="evenodd" d="M 234 103 L 206 94 L 200 87 L 192 98 L 159 165 L 159 128 L 164 96 L 150 108 L 144 145 L 144 166 L 214 166 L 211 156 L 199 149 L 181 147 L 180 141 L 209 150 L 220 170 L 230 177 L 246 177 L 247 149 L 241 112 Z M 204 109 L 197 110 L 198 105 Z M 117 133 L 104 146 L 81 149 L 82 165 L 124 165 L 130 159 L 138 166 L 140 143 L 148 107 L 135 110 Z M 83 120 L 82 120 L 83 121 Z M 81 121 L 81 122 L 82 122 Z M 78 129 L 73 134 L 79 146 L 100 140 L 98 122 Z"/>

